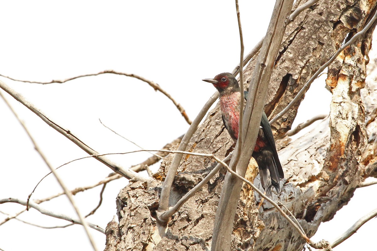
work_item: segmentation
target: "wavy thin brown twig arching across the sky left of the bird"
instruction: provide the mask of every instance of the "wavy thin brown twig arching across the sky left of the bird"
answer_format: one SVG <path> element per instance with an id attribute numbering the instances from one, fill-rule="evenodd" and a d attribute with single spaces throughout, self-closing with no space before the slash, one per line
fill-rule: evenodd
<path id="1" fill-rule="evenodd" d="M 0 76 L 2 76 L 4 78 L 11 79 L 13 81 L 46 85 L 46 84 L 53 84 L 53 83 L 63 84 L 65 82 L 68 82 L 68 81 L 71 81 L 71 80 L 74 80 L 74 79 L 77 79 L 77 78 L 83 78 L 83 77 L 88 77 L 88 76 L 98 76 L 98 75 L 105 74 L 105 73 L 116 74 L 116 75 L 123 75 L 123 76 L 131 77 L 131 78 L 136 78 L 136 79 L 139 79 L 139 80 L 141 80 L 143 82 L 146 82 L 153 89 L 155 89 L 155 91 L 160 91 L 167 98 L 169 98 L 170 100 L 172 100 L 172 102 L 174 103 L 174 105 L 176 106 L 176 108 L 179 110 L 179 112 L 182 114 L 182 116 L 184 117 L 184 119 L 186 120 L 186 122 L 189 123 L 189 125 L 191 125 L 192 121 L 189 119 L 189 116 L 187 116 L 186 111 L 183 109 L 183 107 L 181 106 L 181 104 L 179 104 L 175 99 L 173 99 L 173 97 L 169 93 L 167 93 L 164 89 L 162 89 L 161 86 L 159 86 L 159 84 L 157 84 L 157 83 L 155 83 L 153 81 L 150 81 L 150 80 L 148 80 L 146 78 L 143 78 L 141 76 L 138 76 L 136 74 L 124 73 L 124 72 L 119 72 L 119 71 L 114 71 L 114 70 L 104 70 L 104 71 L 100 71 L 98 73 L 79 75 L 79 76 L 75 76 L 75 77 L 72 77 L 72 78 L 67 78 L 67 79 L 63 79 L 63 80 L 52 80 L 52 81 L 49 81 L 49 82 L 37 82 L 37 81 L 19 80 L 19 79 L 14 79 L 14 78 L 11 78 L 9 76 L 4 76 L 4 75 L 1 75 L 1 74 L 0 74 Z"/>

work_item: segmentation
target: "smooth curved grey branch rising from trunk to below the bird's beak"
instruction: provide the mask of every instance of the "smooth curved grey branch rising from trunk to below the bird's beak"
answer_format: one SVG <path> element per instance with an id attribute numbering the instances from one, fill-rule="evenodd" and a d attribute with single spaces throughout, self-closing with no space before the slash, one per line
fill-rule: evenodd
<path id="1" fill-rule="evenodd" d="M 202 121 L 205 114 L 207 114 L 208 109 L 211 107 L 211 105 L 216 101 L 216 99 L 218 97 L 219 97 L 219 93 L 216 91 L 210 97 L 210 99 L 207 101 L 207 103 L 205 103 L 203 108 L 200 110 L 198 116 L 196 116 L 193 123 L 190 125 L 186 134 L 182 138 L 181 144 L 179 144 L 179 147 L 178 147 L 179 151 L 184 151 L 186 149 L 192 135 L 196 131 L 196 128 L 198 128 L 199 123 Z M 168 209 L 170 189 L 172 187 L 173 180 L 174 180 L 174 177 L 175 177 L 175 173 L 178 169 L 179 164 L 181 163 L 181 160 L 182 160 L 181 154 L 177 154 L 173 158 L 172 164 L 170 165 L 169 171 L 168 171 L 168 173 L 165 177 L 165 181 L 162 184 L 161 196 L 160 196 L 160 202 L 159 202 L 157 214 L 161 214 Z"/>

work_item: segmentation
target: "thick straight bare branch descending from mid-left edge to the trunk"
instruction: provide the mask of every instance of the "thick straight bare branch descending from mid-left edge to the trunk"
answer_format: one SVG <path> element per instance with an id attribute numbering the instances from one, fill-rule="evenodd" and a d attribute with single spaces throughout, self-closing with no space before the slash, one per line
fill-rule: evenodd
<path id="1" fill-rule="evenodd" d="M 28 102 L 25 97 L 23 97 L 20 93 L 17 93 L 16 91 L 12 90 L 8 85 L 6 85 L 4 82 L 0 81 L 0 88 L 5 90 L 7 93 L 9 93 L 12 97 L 14 97 L 16 100 L 21 102 L 23 105 L 25 105 L 29 110 L 31 110 L 33 113 L 37 114 L 38 117 L 40 117 L 44 122 L 46 122 L 49 126 L 63 134 L 65 137 L 67 137 L 69 140 L 74 142 L 77 146 L 79 146 L 81 149 L 83 149 L 88 154 L 91 154 L 93 156 L 97 156 L 98 152 L 90 148 L 88 145 L 86 145 L 83 141 L 81 141 L 79 138 L 77 138 L 74 134 L 72 134 L 71 131 L 64 129 L 62 126 L 58 125 L 57 123 L 50 120 L 46 115 L 44 115 L 41 111 L 39 111 L 32 103 Z M 138 173 L 128 169 L 123 168 L 121 165 L 114 163 L 113 161 L 110 161 L 109 159 L 99 156 L 95 157 L 97 160 L 101 161 L 106 166 L 110 167 L 114 172 L 119 173 L 120 175 L 129 178 L 129 179 L 135 179 L 140 181 L 145 181 L 149 185 L 156 185 L 156 181 L 149 178 L 149 177 L 143 177 L 139 175 Z"/>

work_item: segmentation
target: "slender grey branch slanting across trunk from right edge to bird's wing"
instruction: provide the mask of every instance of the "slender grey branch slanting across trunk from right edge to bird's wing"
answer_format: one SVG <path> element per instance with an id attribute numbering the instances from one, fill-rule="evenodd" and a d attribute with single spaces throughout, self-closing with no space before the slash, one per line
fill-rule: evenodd
<path id="1" fill-rule="evenodd" d="M 276 120 L 280 119 L 285 113 L 287 113 L 287 111 L 289 111 L 291 107 L 302 97 L 302 95 L 305 93 L 308 86 L 314 81 L 314 79 L 316 79 L 317 76 L 322 71 L 324 71 L 325 68 L 328 67 L 344 49 L 346 49 L 350 44 L 356 42 L 362 35 L 364 35 L 364 33 L 368 31 L 368 29 L 372 26 L 372 24 L 375 22 L 376 19 L 377 19 L 377 12 L 374 13 L 372 19 L 368 22 L 368 24 L 366 24 L 364 29 L 357 32 L 347 43 L 341 46 L 325 64 L 319 67 L 316 73 L 314 73 L 314 75 L 311 76 L 311 78 L 306 82 L 306 84 L 302 87 L 299 93 L 297 93 L 296 97 L 294 97 L 294 99 L 280 113 L 278 113 L 273 119 L 270 120 L 270 124 L 274 123 Z"/>

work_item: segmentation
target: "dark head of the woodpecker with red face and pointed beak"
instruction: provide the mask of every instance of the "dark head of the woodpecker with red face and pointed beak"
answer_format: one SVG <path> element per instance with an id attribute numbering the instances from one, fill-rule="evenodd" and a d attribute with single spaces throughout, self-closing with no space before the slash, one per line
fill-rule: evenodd
<path id="1" fill-rule="evenodd" d="M 233 74 L 228 72 L 220 73 L 213 79 L 203 79 L 203 81 L 213 84 L 213 86 L 219 91 L 220 95 L 239 91 L 237 79 L 234 78 Z"/>

